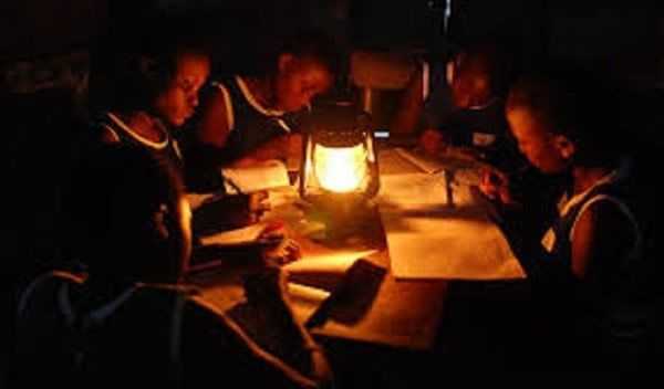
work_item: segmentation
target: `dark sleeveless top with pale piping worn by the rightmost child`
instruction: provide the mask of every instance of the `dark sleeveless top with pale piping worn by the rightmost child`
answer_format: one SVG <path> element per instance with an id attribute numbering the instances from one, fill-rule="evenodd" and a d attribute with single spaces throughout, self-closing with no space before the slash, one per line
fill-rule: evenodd
<path id="1" fill-rule="evenodd" d="M 643 232 L 630 204 L 629 160 L 623 160 L 619 169 L 595 182 L 582 193 L 578 193 L 559 204 L 560 218 L 542 238 L 542 246 L 551 255 L 544 261 L 560 261 L 559 264 L 571 269 L 572 236 L 579 218 L 595 202 L 610 202 L 625 215 L 627 227 L 634 236 L 631 250 L 602 263 L 601 272 L 589 275 L 578 283 L 574 291 L 578 302 L 577 318 L 580 325 L 590 325 L 604 336 L 636 340 L 643 336 L 647 320 L 647 308 L 632 298 L 643 285 L 632 278 L 644 261 Z M 604 260 L 604 259 L 603 259 Z M 585 324 L 583 324 L 585 323 Z"/>

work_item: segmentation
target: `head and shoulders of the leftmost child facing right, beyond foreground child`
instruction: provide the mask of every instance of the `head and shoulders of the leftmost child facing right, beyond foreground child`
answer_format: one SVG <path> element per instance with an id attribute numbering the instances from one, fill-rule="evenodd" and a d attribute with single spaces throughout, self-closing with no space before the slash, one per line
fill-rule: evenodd
<path id="1" fill-rule="evenodd" d="M 181 166 L 172 132 L 198 106 L 210 61 L 196 36 L 163 25 L 151 25 L 148 34 L 131 24 L 124 34 L 111 31 L 93 53 L 92 137 L 146 148 Z"/>

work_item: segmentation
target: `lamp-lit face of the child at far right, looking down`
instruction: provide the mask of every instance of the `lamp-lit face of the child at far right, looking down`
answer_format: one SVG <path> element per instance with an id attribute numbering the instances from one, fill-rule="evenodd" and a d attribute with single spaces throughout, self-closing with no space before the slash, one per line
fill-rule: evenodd
<path id="1" fill-rule="evenodd" d="M 508 109 L 507 120 L 519 144 L 519 150 L 530 164 L 546 174 L 566 170 L 568 159 L 563 157 L 560 136 L 546 132 L 542 124 L 523 107 Z"/>

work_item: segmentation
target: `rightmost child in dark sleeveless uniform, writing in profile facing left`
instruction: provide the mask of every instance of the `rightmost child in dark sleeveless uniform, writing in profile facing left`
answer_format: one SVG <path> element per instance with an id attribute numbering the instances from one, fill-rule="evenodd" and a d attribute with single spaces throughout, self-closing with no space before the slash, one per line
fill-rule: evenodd
<path id="1" fill-rule="evenodd" d="M 558 219 L 541 242 L 521 241 L 517 255 L 558 332 L 547 349 L 553 360 L 573 369 L 634 368 L 653 297 L 643 293 L 652 280 L 641 274 L 644 214 L 629 149 L 614 135 L 619 96 L 590 74 L 522 77 L 509 93 L 507 119 L 521 153 L 543 174 L 571 177 Z M 510 201 L 504 179 L 487 177 L 481 189 Z"/>

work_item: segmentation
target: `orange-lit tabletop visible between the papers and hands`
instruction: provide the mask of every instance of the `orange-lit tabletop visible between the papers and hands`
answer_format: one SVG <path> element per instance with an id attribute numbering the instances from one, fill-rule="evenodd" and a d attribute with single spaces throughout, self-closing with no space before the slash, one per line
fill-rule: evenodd
<path id="1" fill-rule="evenodd" d="M 308 323 L 314 336 L 411 350 L 430 350 L 435 346 L 449 282 L 394 277 L 376 208 L 357 214 L 355 229 L 346 239 L 325 241 L 315 239 L 315 222 L 309 220 L 311 212 L 301 207 L 294 188 L 276 190 L 270 197 L 274 207 L 266 219 L 286 221 L 305 257 L 372 251 L 361 255 L 366 260 L 364 265 L 371 265 L 359 266 L 353 274 L 344 274 L 343 266 L 330 272 L 317 272 L 315 267 L 290 272 L 290 281 L 323 291 L 322 297 L 331 296 L 325 303 L 319 298 L 313 304 L 293 298 L 299 319 L 305 322 L 314 312 L 317 319 L 321 318 Z M 243 299 L 243 271 L 222 269 L 198 275 L 194 281 L 201 286 L 206 298 L 227 309 Z M 366 274 L 373 274 L 371 282 L 363 278 Z"/>

